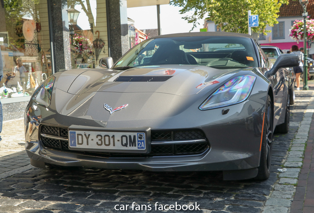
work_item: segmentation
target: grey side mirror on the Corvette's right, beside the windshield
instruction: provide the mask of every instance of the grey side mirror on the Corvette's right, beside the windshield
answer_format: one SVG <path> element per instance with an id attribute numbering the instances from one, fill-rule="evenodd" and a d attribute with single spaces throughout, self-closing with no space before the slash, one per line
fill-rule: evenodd
<path id="1" fill-rule="evenodd" d="M 275 75 L 280 68 L 298 67 L 299 57 L 296 54 L 281 54 L 277 58 L 273 68 L 265 73 L 266 75 Z M 267 76 L 268 77 L 268 76 Z"/>

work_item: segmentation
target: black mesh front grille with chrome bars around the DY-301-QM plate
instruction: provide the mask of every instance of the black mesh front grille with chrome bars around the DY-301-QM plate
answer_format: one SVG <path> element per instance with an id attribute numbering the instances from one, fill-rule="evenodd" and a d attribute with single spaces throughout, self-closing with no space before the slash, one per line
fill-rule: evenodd
<path id="1" fill-rule="evenodd" d="M 68 138 L 68 128 L 41 125 L 40 134 Z M 67 150 L 86 155 L 102 157 L 152 157 L 152 156 L 173 156 L 173 155 L 195 155 L 209 150 L 209 144 L 205 134 L 198 129 L 172 130 L 172 131 L 151 131 L 151 152 L 149 154 L 134 153 L 106 153 L 90 151 L 73 151 L 69 149 L 68 141 L 62 139 L 50 139 L 40 136 L 44 147 Z M 191 143 L 189 142 L 191 140 Z M 205 140 L 206 142 L 194 142 L 193 140 Z M 175 142 L 178 142 L 176 144 Z M 180 142 L 187 141 L 183 144 Z M 166 142 L 172 142 L 167 144 Z M 155 143 L 155 144 L 154 144 Z M 158 144 L 157 144 L 158 143 Z M 162 144 L 164 143 L 164 144 Z"/>

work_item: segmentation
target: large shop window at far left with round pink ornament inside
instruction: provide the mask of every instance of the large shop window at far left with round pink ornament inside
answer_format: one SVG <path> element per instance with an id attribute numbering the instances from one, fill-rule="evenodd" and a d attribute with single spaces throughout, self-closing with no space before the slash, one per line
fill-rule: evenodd
<path id="1" fill-rule="evenodd" d="M 52 74 L 47 1 L 14 2 L 0 6 L 0 98 L 31 96 Z"/>

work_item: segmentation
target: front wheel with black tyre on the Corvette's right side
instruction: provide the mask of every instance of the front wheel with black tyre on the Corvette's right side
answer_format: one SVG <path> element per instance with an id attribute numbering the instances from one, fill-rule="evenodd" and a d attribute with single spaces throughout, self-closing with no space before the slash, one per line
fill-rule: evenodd
<path id="1" fill-rule="evenodd" d="M 271 174 L 272 150 L 273 150 L 273 108 L 271 97 L 267 96 L 265 118 L 263 127 L 263 140 L 261 148 L 260 166 L 255 179 L 265 180 Z"/>

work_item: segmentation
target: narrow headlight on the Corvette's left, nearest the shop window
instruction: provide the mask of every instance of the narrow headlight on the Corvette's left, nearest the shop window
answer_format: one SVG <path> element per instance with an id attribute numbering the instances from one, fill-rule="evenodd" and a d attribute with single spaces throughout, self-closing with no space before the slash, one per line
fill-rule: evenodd
<path id="1" fill-rule="evenodd" d="M 35 103 L 45 107 L 50 106 L 52 87 L 55 79 L 55 76 L 50 76 L 39 86 L 32 98 Z"/>

